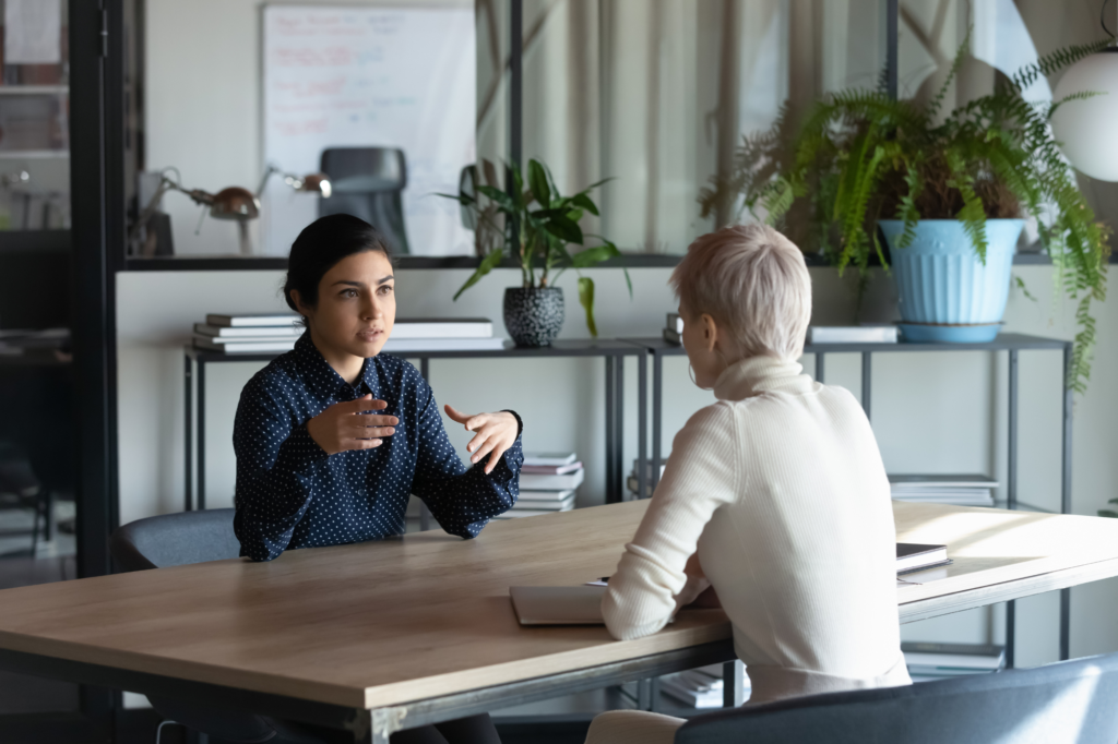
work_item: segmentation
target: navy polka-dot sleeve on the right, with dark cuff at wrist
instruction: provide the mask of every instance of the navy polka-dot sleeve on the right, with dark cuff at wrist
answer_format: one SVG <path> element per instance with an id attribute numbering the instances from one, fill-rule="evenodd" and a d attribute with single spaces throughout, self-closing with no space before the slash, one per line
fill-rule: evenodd
<path id="1" fill-rule="evenodd" d="M 476 537 L 492 517 L 512 508 L 520 495 L 523 422 L 509 411 L 517 418 L 517 441 L 493 473 L 485 474 L 490 456 L 466 469 L 446 436 L 435 393 L 430 385 L 424 388 L 427 400 L 420 406 L 419 452 L 411 493 L 423 499 L 443 530 L 459 537 Z"/>

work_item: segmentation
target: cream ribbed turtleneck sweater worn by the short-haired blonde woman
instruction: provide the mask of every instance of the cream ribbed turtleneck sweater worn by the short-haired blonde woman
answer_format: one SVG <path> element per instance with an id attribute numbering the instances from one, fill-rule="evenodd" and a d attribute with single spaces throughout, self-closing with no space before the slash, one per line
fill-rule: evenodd
<path id="1" fill-rule="evenodd" d="M 889 480 L 865 413 L 802 366 L 752 357 L 675 436 L 603 599 L 614 637 L 663 628 L 705 588 L 733 624 L 750 703 L 909 684 Z"/>

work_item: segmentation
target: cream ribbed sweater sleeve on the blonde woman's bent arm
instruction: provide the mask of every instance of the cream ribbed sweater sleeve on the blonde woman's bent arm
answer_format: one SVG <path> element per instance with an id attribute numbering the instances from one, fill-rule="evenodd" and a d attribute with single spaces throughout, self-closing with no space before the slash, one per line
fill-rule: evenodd
<path id="1" fill-rule="evenodd" d="M 732 409 L 720 402 L 692 416 L 675 435 L 656 495 L 601 600 L 614 638 L 654 633 L 675 613 L 688 583 L 683 569 L 703 527 L 741 487 L 736 427 Z"/>

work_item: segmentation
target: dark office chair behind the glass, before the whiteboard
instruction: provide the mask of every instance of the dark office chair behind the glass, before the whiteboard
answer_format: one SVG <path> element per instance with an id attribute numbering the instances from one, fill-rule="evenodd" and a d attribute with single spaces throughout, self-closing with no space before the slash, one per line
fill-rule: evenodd
<path id="1" fill-rule="evenodd" d="M 329 147 L 319 170 L 330 179 L 331 194 L 319 199 L 319 217 L 352 214 L 377 228 L 392 252 L 405 255 L 404 187 L 408 169 L 396 147 Z"/>

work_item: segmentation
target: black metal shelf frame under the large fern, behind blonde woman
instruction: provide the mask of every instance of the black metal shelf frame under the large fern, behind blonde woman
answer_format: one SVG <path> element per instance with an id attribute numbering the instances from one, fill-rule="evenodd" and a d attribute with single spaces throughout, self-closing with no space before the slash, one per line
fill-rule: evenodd
<path id="1" fill-rule="evenodd" d="M 891 0 L 893 1 L 893 0 Z M 669 343 L 663 338 L 626 338 L 634 344 L 641 344 L 648 350 L 652 355 L 652 488 L 656 487 L 660 480 L 660 441 L 661 420 L 663 417 L 663 359 L 664 356 L 683 356 L 686 354 L 682 346 Z M 1071 431 L 1072 431 L 1072 407 L 1073 391 L 1069 387 L 1071 380 L 1071 354 L 1073 343 L 1062 338 L 1044 338 L 1041 336 L 1030 336 L 1021 333 L 1002 333 L 997 338 L 988 343 L 979 344 L 934 344 L 934 343 L 897 343 L 897 344 L 806 344 L 805 354 L 815 355 L 815 379 L 823 382 L 826 370 L 827 354 L 861 354 L 862 355 L 862 408 L 866 418 L 870 417 L 870 403 L 872 393 L 872 356 L 880 353 L 898 352 L 959 352 L 959 351 L 1004 351 L 1008 354 L 1008 437 L 1007 437 L 1007 477 L 1006 477 L 1006 507 L 1016 509 L 1022 506 L 1017 502 L 1017 368 L 1018 353 L 1029 350 L 1048 350 L 1063 352 L 1063 416 L 1062 416 L 1062 445 L 1061 445 L 1061 485 L 1060 485 L 1060 513 L 1071 514 Z M 642 475 L 642 474 L 638 474 Z M 644 494 L 644 484 L 641 483 L 641 494 Z M 1006 602 L 1005 617 L 1005 660 L 1006 666 L 1013 667 L 1015 656 L 1015 631 L 1016 631 L 1016 605 L 1013 601 Z M 1060 659 L 1070 658 L 1071 642 L 1071 590 L 1060 590 Z"/>

